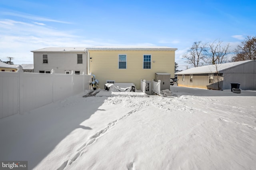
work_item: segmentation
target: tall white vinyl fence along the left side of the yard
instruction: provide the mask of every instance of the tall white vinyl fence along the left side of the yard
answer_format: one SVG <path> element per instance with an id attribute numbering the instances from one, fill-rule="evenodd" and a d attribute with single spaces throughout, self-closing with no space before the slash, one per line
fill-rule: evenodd
<path id="1" fill-rule="evenodd" d="M 0 119 L 90 89 L 91 75 L 0 72 Z"/>

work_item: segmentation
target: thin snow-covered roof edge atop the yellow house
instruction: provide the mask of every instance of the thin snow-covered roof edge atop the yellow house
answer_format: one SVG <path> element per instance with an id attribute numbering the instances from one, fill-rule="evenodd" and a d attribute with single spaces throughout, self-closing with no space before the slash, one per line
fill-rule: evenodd
<path id="1" fill-rule="evenodd" d="M 176 51 L 177 48 L 166 46 L 94 46 L 91 51 Z"/>

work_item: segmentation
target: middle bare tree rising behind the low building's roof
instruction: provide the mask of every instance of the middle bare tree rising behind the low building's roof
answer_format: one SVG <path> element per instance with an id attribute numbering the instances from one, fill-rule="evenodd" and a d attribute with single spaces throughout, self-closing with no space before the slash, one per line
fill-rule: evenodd
<path id="1" fill-rule="evenodd" d="M 205 62 L 209 64 L 226 63 L 227 55 L 230 53 L 230 44 L 223 45 L 220 40 L 209 43 L 209 50 Z"/>

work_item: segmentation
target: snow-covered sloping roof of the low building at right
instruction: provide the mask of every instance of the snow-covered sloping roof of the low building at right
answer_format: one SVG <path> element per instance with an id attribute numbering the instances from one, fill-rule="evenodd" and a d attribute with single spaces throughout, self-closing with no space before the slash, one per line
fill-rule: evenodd
<path id="1" fill-rule="evenodd" d="M 231 62 L 231 63 L 217 64 L 217 69 L 218 69 L 218 72 L 221 73 L 226 69 L 230 69 L 232 67 L 236 67 L 238 65 L 242 65 L 244 63 L 249 63 L 249 62 L 253 62 L 253 61 L 255 61 L 255 60 L 236 61 L 236 62 Z M 191 69 L 180 71 L 175 74 L 180 75 L 180 74 L 200 74 L 200 73 L 216 73 L 216 65 L 205 65 L 205 66 L 201 66 L 201 67 L 193 67 Z"/>

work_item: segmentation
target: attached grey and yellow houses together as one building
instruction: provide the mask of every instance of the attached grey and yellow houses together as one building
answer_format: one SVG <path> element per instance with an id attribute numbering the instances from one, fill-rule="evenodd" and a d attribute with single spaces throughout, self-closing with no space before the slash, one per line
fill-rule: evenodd
<path id="1" fill-rule="evenodd" d="M 174 78 L 175 51 L 177 48 L 162 46 L 95 46 L 49 47 L 32 51 L 34 72 L 94 74 L 99 88 L 106 83 L 134 83 L 139 89 L 140 79 L 151 87 L 156 73 Z M 157 80 L 156 80 L 157 81 Z M 164 82 L 163 82 L 164 83 Z"/>

